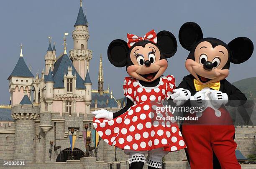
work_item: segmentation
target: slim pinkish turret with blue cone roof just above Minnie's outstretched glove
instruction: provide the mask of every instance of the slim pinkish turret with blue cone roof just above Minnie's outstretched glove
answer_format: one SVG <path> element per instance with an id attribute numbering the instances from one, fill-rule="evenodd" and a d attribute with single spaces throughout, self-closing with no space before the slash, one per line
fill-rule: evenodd
<path id="1" fill-rule="evenodd" d="M 90 113 L 90 105 L 92 103 L 92 81 L 90 79 L 89 71 L 87 70 L 84 79 L 85 91 L 85 112 Z"/>

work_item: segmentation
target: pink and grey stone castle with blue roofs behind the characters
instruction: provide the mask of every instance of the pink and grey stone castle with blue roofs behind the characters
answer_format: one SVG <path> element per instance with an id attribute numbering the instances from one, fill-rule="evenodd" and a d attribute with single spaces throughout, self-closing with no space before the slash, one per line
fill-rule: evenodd
<path id="1" fill-rule="evenodd" d="M 86 147 L 83 132 L 93 128 L 91 112 L 108 109 L 112 112 L 122 108 L 110 88 L 103 89 L 102 55 L 100 56 L 98 89 L 92 89 L 90 60 L 92 51 L 87 49 L 89 39 L 88 22 L 82 8 L 72 31 L 74 48 L 67 53 L 66 35 L 64 50 L 56 57 L 55 44 L 45 55 L 45 69 L 34 77 L 26 65 L 20 49 L 20 57 L 8 77 L 10 105 L 0 107 L 0 169 L 3 161 L 24 161 L 26 167 L 49 169 L 128 169 L 128 156 L 115 150 L 103 140 L 97 149 L 97 158 L 84 157 Z M 51 39 L 50 39 L 51 40 Z M 72 133 L 72 129 L 74 133 Z M 74 150 L 70 148 L 69 135 L 76 136 Z M 256 137 L 254 127 L 238 127 L 236 142 L 246 156 Z M 93 147 L 92 142 L 90 143 Z M 74 152 L 74 160 L 69 155 Z M 115 159 L 115 157 L 117 157 Z M 164 157 L 166 169 L 188 169 L 184 150 L 169 153 Z M 243 168 L 250 168 L 243 164 Z M 255 167 L 255 166 L 254 166 Z M 19 166 L 16 168 L 23 168 Z M 146 166 L 145 166 L 146 168 Z"/>

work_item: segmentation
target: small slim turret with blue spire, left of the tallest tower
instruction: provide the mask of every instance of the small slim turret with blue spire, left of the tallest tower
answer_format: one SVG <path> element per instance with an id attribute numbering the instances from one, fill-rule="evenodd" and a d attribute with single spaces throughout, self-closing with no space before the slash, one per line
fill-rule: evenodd
<path id="1" fill-rule="evenodd" d="M 54 69 L 54 62 L 55 62 L 55 58 L 56 58 L 56 56 L 54 55 L 55 52 L 51 48 L 51 37 L 48 37 L 48 38 L 50 39 L 49 47 L 48 47 L 46 55 L 44 57 L 44 60 L 45 60 L 45 75 L 48 75 L 50 67 L 51 67 L 51 70 Z"/>

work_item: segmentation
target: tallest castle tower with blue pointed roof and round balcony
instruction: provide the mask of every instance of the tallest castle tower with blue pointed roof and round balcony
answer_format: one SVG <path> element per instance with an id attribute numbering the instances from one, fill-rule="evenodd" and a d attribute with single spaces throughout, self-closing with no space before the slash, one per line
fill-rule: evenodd
<path id="1" fill-rule="evenodd" d="M 82 8 L 82 0 L 80 0 L 80 8 L 74 28 L 72 32 L 74 49 L 69 51 L 69 57 L 75 69 L 84 80 L 87 65 L 89 66 L 89 62 L 92 60 L 92 51 L 87 49 L 89 31 L 88 22 Z"/>

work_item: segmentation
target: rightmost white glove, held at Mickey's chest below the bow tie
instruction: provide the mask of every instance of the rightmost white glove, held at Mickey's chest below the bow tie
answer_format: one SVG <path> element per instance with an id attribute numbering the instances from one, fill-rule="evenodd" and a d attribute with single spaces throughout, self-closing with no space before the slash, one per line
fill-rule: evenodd
<path id="1" fill-rule="evenodd" d="M 218 90 L 212 90 L 210 89 L 210 97 L 211 97 L 211 103 L 214 107 L 219 108 L 222 104 L 228 103 L 228 94 L 220 92 Z"/>

